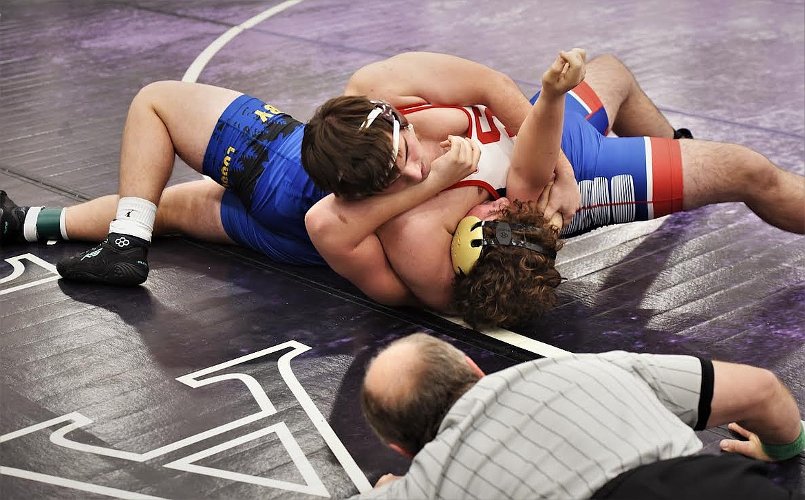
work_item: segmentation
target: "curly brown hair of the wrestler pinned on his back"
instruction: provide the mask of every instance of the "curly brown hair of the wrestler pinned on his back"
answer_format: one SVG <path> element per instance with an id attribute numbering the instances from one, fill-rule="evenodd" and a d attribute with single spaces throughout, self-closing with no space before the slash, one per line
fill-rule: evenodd
<path id="1" fill-rule="evenodd" d="M 526 233 L 528 241 L 551 250 L 562 247 L 559 230 L 548 224 L 535 201 L 514 200 L 498 220 L 535 225 L 542 230 Z M 556 304 L 562 276 L 554 266 L 553 258 L 533 250 L 485 246 L 473 270 L 453 281 L 452 308 L 473 328 L 523 324 Z"/>

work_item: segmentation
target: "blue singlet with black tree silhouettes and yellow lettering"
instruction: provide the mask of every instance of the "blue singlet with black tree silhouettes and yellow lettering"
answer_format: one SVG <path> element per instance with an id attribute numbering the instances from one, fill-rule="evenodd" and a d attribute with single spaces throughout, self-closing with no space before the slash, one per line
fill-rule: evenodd
<path id="1" fill-rule="evenodd" d="M 227 188 L 221 222 L 229 238 L 279 262 L 325 265 L 304 216 L 328 192 L 302 167 L 304 124 L 254 97 L 237 97 L 218 118 L 204 174 Z"/>

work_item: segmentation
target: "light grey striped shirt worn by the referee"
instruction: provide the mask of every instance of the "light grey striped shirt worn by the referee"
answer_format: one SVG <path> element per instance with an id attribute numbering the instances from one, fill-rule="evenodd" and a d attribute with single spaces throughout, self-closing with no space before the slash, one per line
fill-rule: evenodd
<path id="1" fill-rule="evenodd" d="M 613 351 L 481 378 L 408 473 L 356 498 L 588 498 L 639 465 L 702 448 L 712 363 Z"/>

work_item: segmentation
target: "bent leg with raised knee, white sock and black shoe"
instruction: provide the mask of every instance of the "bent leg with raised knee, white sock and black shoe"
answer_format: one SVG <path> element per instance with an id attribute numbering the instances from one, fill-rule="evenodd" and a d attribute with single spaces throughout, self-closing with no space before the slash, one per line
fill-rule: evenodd
<path id="1" fill-rule="evenodd" d="M 179 81 L 160 81 L 140 90 L 123 129 L 120 199 L 109 235 L 93 249 L 62 259 L 56 271 L 81 281 L 119 285 L 145 281 L 157 205 L 175 155 L 202 171 L 218 118 L 239 95 Z"/>

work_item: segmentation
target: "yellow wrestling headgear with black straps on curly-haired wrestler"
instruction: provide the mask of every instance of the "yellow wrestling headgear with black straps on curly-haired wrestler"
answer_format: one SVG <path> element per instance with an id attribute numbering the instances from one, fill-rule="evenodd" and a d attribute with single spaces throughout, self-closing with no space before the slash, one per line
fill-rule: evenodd
<path id="1" fill-rule="evenodd" d="M 495 230 L 492 238 L 484 238 L 485 227 Z M 547 249 L 539 243 L 527 242 L 525 239 L 526 231 L 543 230 L 535 225 L 512 224 L 506 221 L 481 221 L 473 215 L 464 217 L 458 223 L 450 245 L 453 271 L 456 271 L 456 275 L 467 275 L 481 257 L 481 250 L 488 245 L 521 246 L 547 255 L 548 258 L 556 258 L 554 250 Z M 522 233 L 522 239 L 513 239 L 512 232 Z"/>

